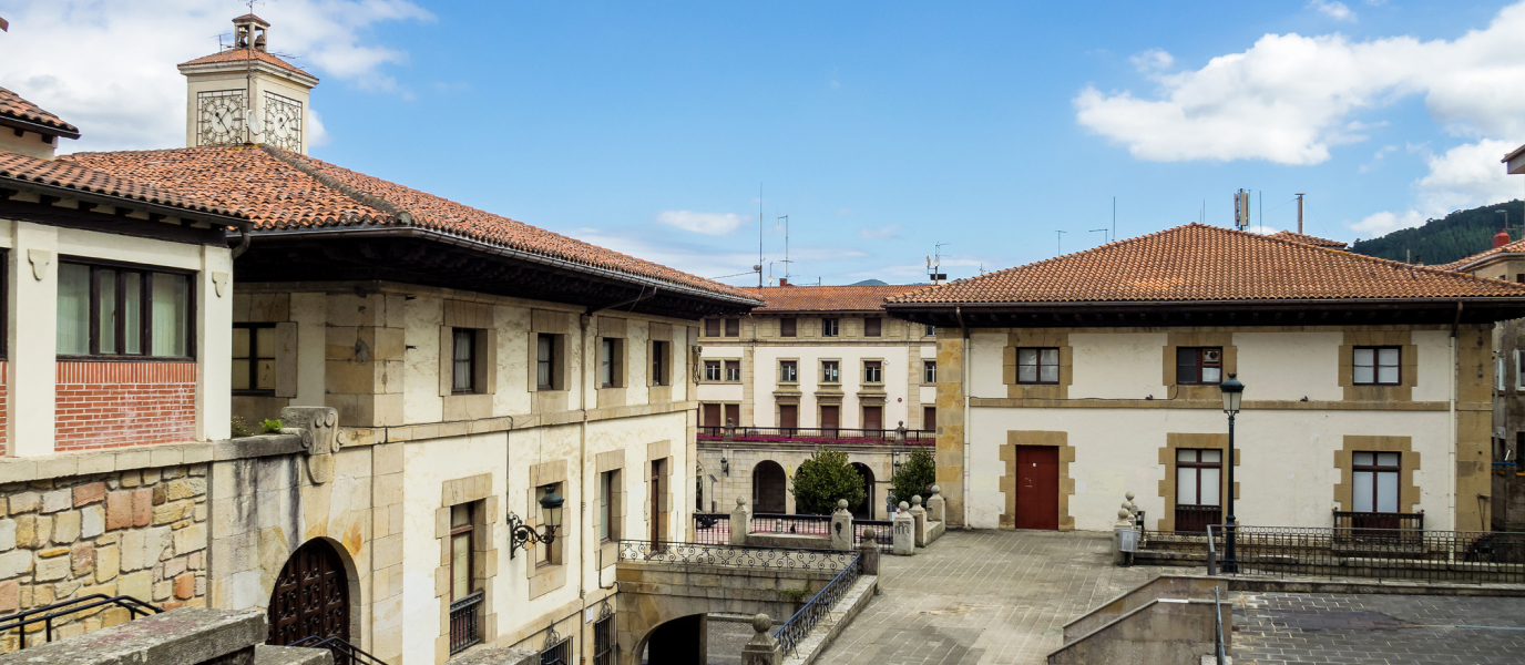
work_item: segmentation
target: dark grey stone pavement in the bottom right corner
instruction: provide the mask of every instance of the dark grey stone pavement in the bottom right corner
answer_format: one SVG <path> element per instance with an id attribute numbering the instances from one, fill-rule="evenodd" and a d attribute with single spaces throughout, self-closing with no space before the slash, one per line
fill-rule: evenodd
<path id="1" fill-rule="evenodd" d="M 1244 593 L 1234 662 L 1519 663 L 1525 598 Z"/>

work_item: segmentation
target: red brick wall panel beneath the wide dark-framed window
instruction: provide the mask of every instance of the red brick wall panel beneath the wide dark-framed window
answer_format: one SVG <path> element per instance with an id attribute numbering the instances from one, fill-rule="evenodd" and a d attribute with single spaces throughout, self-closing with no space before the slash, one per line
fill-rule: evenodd
<path id="1" fill-rule="evenodd" d="M 195 363 L 58 363 L 55 450 L 195 438 Z"/>

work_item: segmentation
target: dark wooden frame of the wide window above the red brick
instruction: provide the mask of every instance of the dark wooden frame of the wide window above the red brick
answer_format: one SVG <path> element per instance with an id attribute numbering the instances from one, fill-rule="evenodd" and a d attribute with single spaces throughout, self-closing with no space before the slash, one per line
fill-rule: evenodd
<path id="1" fill-rule="evenodd" d="M 90 304 L 88 304 L 88 328 L 90 328 L 90 343 L 88 352 L 85 354 L 56 354 L 59 360 L 90 360 L 90 361 L 152 361 L 152 363 L 186 363 L 197 360 L 197 284 L 195 270 L 180 270 L 169 268 L 163 265 L 145 265 L 127 261 L 107 261 L 93 259 L 84 256 L 59 256 L 61 264 L 84 265 L 90 268 Z M 140 291 L 140 313 L 139 313 L 139 352 L 101 352 L 101 270 L 116 270 L 120 276 L 122 271 L 137 271 L 142 273 L 139 279 Z M 186 340 L 186 355 L 154 355 L 154 273 L 162 275 L 177 275 L 186 278 L 186 320 L 185 320 L 185 340 Z M 116 281 L 116 311 L 122 311 L 125 305 L 125 279 L 117 278 Z M 56 299 L 56 296 L 53 296 Z M 125 349 L 125 322 L 124 317 L 117 317 L 117 326 L 114 331 L 114 339 L 117 349 Z"/>

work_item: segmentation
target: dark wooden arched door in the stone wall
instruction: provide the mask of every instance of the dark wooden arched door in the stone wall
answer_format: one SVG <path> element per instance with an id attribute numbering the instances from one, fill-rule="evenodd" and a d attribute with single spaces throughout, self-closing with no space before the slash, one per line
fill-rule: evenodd
<path id="1" fill-rule="evenodd" d="M 308 636 L 349 641 L 349 577 L 334 546 L 322 538 L 297 548 L 270 593 L 270 642 Z"/>

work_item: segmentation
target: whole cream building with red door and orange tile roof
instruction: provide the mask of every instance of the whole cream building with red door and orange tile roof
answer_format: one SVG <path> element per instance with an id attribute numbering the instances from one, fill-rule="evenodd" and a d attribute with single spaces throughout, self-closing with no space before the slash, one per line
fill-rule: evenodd
<path id="1" fill-rule="evenodd" d="M 1241 525 L 1488 528 L 1491 336 L 1525 285 L 1191 224 L 886 308 L 938 326 L 955 525 L 1107 529 L 1133 491 L 1200 529 L 1234 464 Z"/>

